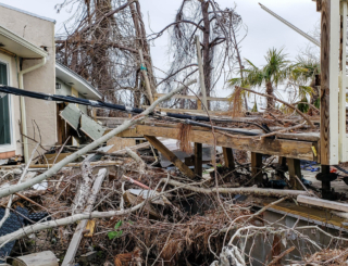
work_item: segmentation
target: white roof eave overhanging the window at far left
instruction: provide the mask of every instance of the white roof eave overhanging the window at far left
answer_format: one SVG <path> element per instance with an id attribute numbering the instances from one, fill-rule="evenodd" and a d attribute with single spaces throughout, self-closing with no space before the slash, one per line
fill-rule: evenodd
<path id="1" fill-rule="evenodd" d="M 0 26 L 0 48 L 25 59 L 46 58 L 48 55 L 44 49 L 2 26 Z"/>

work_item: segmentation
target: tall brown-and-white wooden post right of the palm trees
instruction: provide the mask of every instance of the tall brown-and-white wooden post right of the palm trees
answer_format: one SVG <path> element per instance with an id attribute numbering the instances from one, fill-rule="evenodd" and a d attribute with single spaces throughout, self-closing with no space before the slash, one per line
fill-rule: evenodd
<path id="1" fill-rule="evenodd" d="M 321 7 L 321 164 L 338 164 L 339 0 Z"/>

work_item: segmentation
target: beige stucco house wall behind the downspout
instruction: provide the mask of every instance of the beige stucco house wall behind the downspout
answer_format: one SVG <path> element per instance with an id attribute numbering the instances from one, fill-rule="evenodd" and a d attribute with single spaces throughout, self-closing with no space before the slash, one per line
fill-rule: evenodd
<path id="1" fill-rule="evenodd" d="M 55 48 L 54 23 L 24 14 L 18 11 L 0 7 L 0 24 L 16 35 L 25 38 L 37 47 L 47 47 L 47 64 L 24 75 L 24 89 L 45 93 L 55 93 Z M 40 63 L 40 60 L 24 60 L 22 69 Z M 15 72 L 14 72 L 15 73 Z M 17 87 L 17 86 L 15 86 Z M 18 100 L 15 101 L 15 112 L 18 112 Z M 50 148 L 57 142 L 57 109 L 55 102 L 25 98 L 28 136 L 38 140 L 38 129 L 34 129 L 35 121 L 41 135 L 41 143 Z M 18 117 L 16 117 L 18 118 Z M 16 126 L 17 127 L 17 126 Z M 17 130 L 16 130 L 17 132 Z M 20 135 L 16 135 L 18 139 Z M 28 140 L 29 155 L 35 142 Z M 21 149 L 17 148 L 16 152 Z"/>

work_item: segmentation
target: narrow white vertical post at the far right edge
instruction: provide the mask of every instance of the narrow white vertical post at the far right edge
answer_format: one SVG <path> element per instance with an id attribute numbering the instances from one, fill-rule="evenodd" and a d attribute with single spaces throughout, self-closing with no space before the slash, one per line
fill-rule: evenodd
<path id="1" fill-rule="evenodd" d="M 339 161 L 347 161 L 346 137 L 346 62 L 347 62 L 347 2 L 340 2 L 340 83 L 339 83 Z"/>

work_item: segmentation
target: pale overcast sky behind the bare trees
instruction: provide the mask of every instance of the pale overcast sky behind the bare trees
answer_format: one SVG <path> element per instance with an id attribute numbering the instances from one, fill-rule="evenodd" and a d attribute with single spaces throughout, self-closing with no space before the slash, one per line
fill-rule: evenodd
<path id="1" fill-rule="evenodd" d="M 62 23 L 71 15 L 65 10 L 60 14 L 54 10 L 54 5 L 63 2 L 63 0 L 0 0 L 0 2 L 54 18 L 57 21 L 57 30 L 61 28 Z M 176 10 L 179 8 L 182 0 L 139 0 L 139 2 L 144 21 L 146 24 L 150 22 L 151 29 L 159 31 L 174 21 Z M 216 0 L 216 2 L 220 3 L 221 8 L 237 5 L 236 11 L 241 15 L 244 23 L 248 27 L 248 35 L 241 45 L 241 55 L 258 66 L 264 64 L 264 54 L 270 48 L 284 47 L 289 58 L 295 59 L 309 43 L 302 36 L 263 11 L 258 2 L 261 2 L 306 33 L 312 31 L 314 25 L 320 21 L 320 13 L 316 12 L 315 2 L 311 0 Z M 166 43 L 167 37 L 163 35 L 151 47 L 153 64 L 164 69 L 167 68 L 169 62 Z M 224 92 L 220 93 L 225 94 Z"/>

